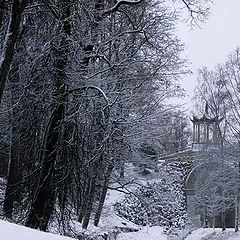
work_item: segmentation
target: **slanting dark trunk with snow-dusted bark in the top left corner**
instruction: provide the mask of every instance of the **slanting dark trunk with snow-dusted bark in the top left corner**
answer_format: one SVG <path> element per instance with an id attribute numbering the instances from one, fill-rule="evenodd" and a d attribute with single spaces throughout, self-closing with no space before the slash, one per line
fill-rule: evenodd
<path id="1" fill-rule="evenodd" d="M 1 1 L 1 0 L 0 0 Z M 6 85 L 6 79 L 11 66 L 13 55 L 15 52 L 15 44 L 17 42 L 19 28 L 23 11 L 27 5 L 27 0 L 14 0 L 12 4 L 12 11 L 10 16 L 10 23 L 5 39 L 3 53 L 0 62 L 0 104 L 2 101 L 3 91 Z M 4 1 L 2 2 L 3 6 Z M 1 15 L 0 15 L 1 16 Z"/>

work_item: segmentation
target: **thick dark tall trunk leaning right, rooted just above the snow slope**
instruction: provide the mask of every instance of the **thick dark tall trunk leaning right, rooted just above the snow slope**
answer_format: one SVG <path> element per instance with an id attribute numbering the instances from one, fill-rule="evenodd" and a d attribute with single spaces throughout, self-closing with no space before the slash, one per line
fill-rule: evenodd
<path id="1" fill-rule="evenodd" d="M 43 170 L 40 179 L 39 189 L 36 197 L 31 205 L 31 210 L 26 222 L 26 225 L 32 228 L 39 228 L 46 231 L 47 226 L 53 212 L 55 198 L 56 198 L 56 185 L 53 181 L 54 178 L 54 165 L 58 157 L 57 144 L 61 135 L 61 122 L 65 115 L 65 91 L 66 91 L 66 67 L 67 56 L 69 53 L 69 41 L 71 25 L 69 22 L 70 17 L 70 4 L 68 0 L 62 2 L 63 14 L 61 21 L 63 23 L 63 36 L 59 49 L 57 49 L 56 60 L 56 96 L 57 107 L 55 108 L 52 118 L 50 119 L 49 128 L 46 135 L 45 150 L 43 154 Z"/>

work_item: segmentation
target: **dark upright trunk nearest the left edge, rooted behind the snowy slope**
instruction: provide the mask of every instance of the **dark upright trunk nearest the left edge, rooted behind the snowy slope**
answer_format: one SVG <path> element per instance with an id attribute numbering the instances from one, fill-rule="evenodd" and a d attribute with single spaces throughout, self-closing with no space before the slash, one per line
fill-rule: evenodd
<path id="1" fill-rule="evenodd" d="M 27 24 L 26 24 L 27 25 Z M 3 211 L 7 218 L 12 218 L 12 212 L 14 202 L 21 202 L 22 199 L 22 187 L 23 187 L 23 165 L 26 158 L 23 157 L 26 153 L 26 146 L 23 146 L 24 138 L 21 131 L 23 126 L 23 116 L 25 115 L 24 109 L 19 110 L 20 99 L 19 93 L 23 92 L 23 82 L 19 75 L 19 64 L 21 62 L 20 55 L 26 54 L 24 49 L 24 36 L 26 27 L 21 28 L 21 32 L 18 35 L 18 42 L 15 44 L 16 53 L 12 62 L 11 70 L 8 73 L 8 80 L 10 83 L 11 91 L 11 145 L 10 156 L 8 164 L 7 174 L 7 186 L 5 191 Z M 30 111 L 30 110 L 28 110 Z M 30 113 L 28 112 L 30 115 Z M 28 133 L 27 133 L 28 134 Z"/>

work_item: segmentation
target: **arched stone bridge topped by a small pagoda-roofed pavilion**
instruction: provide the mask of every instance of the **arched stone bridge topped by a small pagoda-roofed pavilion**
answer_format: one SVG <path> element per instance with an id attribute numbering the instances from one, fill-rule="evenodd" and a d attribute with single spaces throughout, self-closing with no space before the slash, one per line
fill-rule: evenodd
<path id="1" fill-rule="evenodd" d="M 211 193 L 211 186 L 213 185 L 213 183 L 211 182 L 212 180 L 210 180 L 209 177 L 214 175 L 215 172 L 218 171 L 219 173 L 220 171 L 222 171 L 223 173 L 224 171 L 228 171 L 228 175 L 230 175 L 231 177 L 234 178 L 234 176 L 237 176 L 237 173 L 234 170 L 235 168 L 233 166 L 234 163 L 228 161 L 228 159 L 231 158 L 230 155 L 225 154 L 225 156 L 223 156 L 224 146 L 221 140 L 221 132 L 219 127 L 222 120 L 223 119 L 219 118 L 218 116 L 209 117 L 208 105 L 206 104 L 204 115 L 201 118 L 194 116 L 191 119 L 193 123 L 193 142 L 191 146 L 188 146 L 182 150 L 168 153 L 167 155 L 161 155 L 158 158 L 159 164 L 165 166 L 167 166 L 171 162 L 190 163 L 191 170 L 186 177 L 185 185 L 183 187 L 187 197 L 188 216 L 196 227 L 224 227 L 223 225 L 225 225 L 225 227 L 234 227 L 235 209 L 238 208 L 236 208 L 238 204 L 236 205 L 235 203 L 233 205 L 234 207 L 232 206 L 224 208 L 224 212 L 221 212 L 221 209 L 218 209 L 216 211 L 214 210 L 215 212 L 214 214 L 212 214 L 212 216 L 209 215 L 209 209 L 205 211 L 205 209 L 207 209 L 207 206 L 211 205 L 212 203 L 202 204 L 201 210 L 198 209 L 198 212 L 196 212 L 195 207 L 196 201 L 198 201 L 199 199 L 203 199 L 203 201 L 207 199 L 206 201 L 209 201 L 209 196 L 213 196 L 214 198 L 216 198 L 215 196 L 219 195 L 219 192 L 217 192 L 217 194 L 215 195 Z M 225 151 L 225 153 L 227 152 L 228 151 Z M 197 193 L 195 192 L 196 184 L 202 184 L 201 186 L 203 187 L 203 189 L 207 189 L 208 192 L 206 192 L 206 195 L 204 195 L 204 191 L 201 192 L 200 190 L 198 190 Z M 205 185 L 207 185 L 208 188 L 206 188 Z M 215 186 L 212 187 L 214 188 Z M 200 194 L 200 197 L 199 192 L 202 194 Z M 196 194 L 198 194 L 198 198 L 196 198 Z M 221 201 L 223 203 L 225 202 L 223 198 L 220 200 L 220 202 Z M 200 205 L 199 203 L 197 204 L 199 208 Z M 212 209 L 216 208 L 212 207 Z"/>

